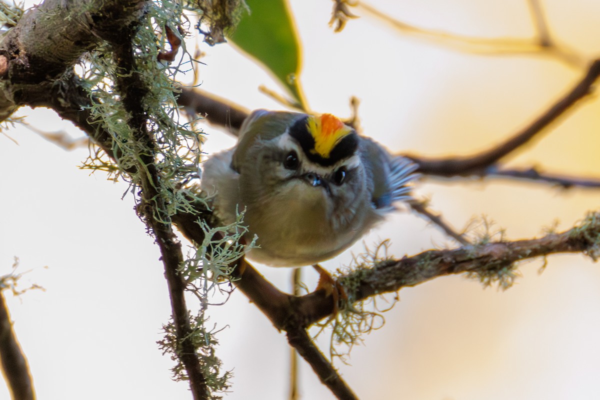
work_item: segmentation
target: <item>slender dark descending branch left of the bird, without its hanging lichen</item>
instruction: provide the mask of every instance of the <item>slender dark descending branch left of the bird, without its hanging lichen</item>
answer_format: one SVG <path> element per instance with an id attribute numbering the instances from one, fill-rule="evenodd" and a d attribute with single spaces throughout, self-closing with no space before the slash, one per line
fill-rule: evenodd
<path id="1" fill-rule="evenodd" d="M 134 47 L 133 44 L 137 31 L 143 31 L 145 28 L 143 24 L 134 26 L 130 31 L 121 32 L 118 41 L 112 42 L 115 64 L 123 71 L 115 77 L 116 90 L 121 95 L 121 102 L 128 116 L 127 126 L 131 130 L 131 136 L 127 133 L 123 138 L 116 136 L 115 142 L 122 139 L 129 144 L 119 149 L 124 158 L 129 157 L 134 161 L 128 169 L 131 170 L 133 184 L 140 188 L 140 203 L 137 211 L 160 248 L 169 285 L 173 327 L 178 343 L 175 352 L 185 369 L 185 378 L 190 381 L 194 399 L 209 399 L 213 396 L 205 376 L 207 371 L 202 368 L 203 363 L 200 362 L 197 353 L 195 331 L 191 326 L 184 297 L 186 285 L 179 272 L 184 264 L 181 243 L 173 232 L 170 222 L 169 194 L 172 192 L 169 190 L 169 180 L 164 179 L 157 167 L 157 160 L 161 153 L 150 122 L 151 115 L 156 113 L 151 107 L 152 101 L 147 101 L 154 94 L 153 82 L 148 74 L 145 74 L 148 70 L 142 67 L 146 55 L 145 49 L 148 49 L 149 44 L 142 43 L 139 47 Z M 160 124 L 158 127 L 160 128 Z M 218 372 L 218 369 L 211 371 Z M 223 384 L 218 386 L 217 389 L 224 387 Z"/>

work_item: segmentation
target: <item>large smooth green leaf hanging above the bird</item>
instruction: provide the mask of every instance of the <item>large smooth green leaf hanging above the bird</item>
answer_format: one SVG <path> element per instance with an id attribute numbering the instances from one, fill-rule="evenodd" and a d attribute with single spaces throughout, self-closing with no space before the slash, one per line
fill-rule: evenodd
<path id="1" fill-rule="evenodd" d="M 269 70 L 304 108 L 299 83 L 301 46 L 286 0 L 245 0 L 250 13 L 228 37 Z"/>

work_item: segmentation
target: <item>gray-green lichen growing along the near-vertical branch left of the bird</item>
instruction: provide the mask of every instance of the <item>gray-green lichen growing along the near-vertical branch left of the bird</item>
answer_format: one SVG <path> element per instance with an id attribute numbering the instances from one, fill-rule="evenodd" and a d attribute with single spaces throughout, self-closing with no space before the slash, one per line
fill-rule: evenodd
<path id="1" fill-rule="evenodd" d="M 164 224 L 169 224 L 170 217 L 176 213 L 200 218 L 203 210 L 208 208 L 194 186 L 199 178 L 202 135 L 179 115 L 176 103 L 179 85 L 175 80 L 176 74 L 186 64 L 194 62 L 183 41 L 190 28 L 190 16 L 202 16 L 205 21 L 209 18 L 200 4 L 204 2 L 148 2 L 143 19 L 132 37 L 134 70 L 124 71 L 121 68 L 109 43 L 89 52 L 78 67 L 80 78 L 85 80 L 91 92 L 92 122 L 110 135 L 112 157 L 116 160 L 92 151 L 84 167 L 104 170 L 113 179 L 129 182 L 131 193 L 139 204 L 142 204 L 142 199 L 137 189 L 143 186 L 143 182 L 152 182 L 155 197 L 161 199 L 156 204 L 164 206 L 159 210 L 153 207 L 151 218 Z M 181 39 L 181 44 L 174 44 L 173 37 Z M 181 58 L 175 57 L 171 63 L 164 61 L 161 55 L 169 52 L 174 55 L 179 46 L 183 50 Z M 130 126 L 132 116 L 125 109 L 121 95 L 115 91 L 116 84 L 127 77 L 134 77 L 136 82 L 142 83 L 139 94 L 125 93 L 123 97 L 142 96 L 140 104 L 146 119 L 143 131 L 151 137 L 149 141 L 140 140 L 137 127 Z M 151 157 L 152 167 L 156 169 L 152 174 L 155 173 L 157 179 L 149 179 L 151 172 L 145 161 L 148 157 Z M 209 227 L 199 219 L 205 242 L 195 243 L 187 259 L 179 266 L 187 290 L 199 299 L 198 314 L 190 318 L 191 339 L 196 346 L 206 384 L 212 390 L 212 398 L 218 398 L 214 393 L 229 387 L 227 382 L 231 374 L 222 371 L 221 362 L 215 356 L 217 341 L 214 335 L 218 330 L 206 327 L 206 309 L 217 303 L 212 296 L 222 293 L 221 288 L 229 284 L 232 261 L 248 248 L 238 244 L 244 233 L 241 218 L 233 225 L 217 228 Z M 185 379 L 185 368 L 178 357 L 181 338 L 176 338 L 172 323 L 165 325 L 164 331 L 165 337 L 160 346 L 176 362 L 173 376 L 178 380 Z"/>

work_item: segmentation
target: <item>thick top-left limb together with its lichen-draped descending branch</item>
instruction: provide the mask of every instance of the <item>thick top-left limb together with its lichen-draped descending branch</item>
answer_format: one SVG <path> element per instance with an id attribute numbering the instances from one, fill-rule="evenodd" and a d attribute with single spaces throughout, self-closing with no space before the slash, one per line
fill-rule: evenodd
<path id="1" fill-rule="evenodd" d="M 157 62 L 164 50 L 157 46 L 164 44 L 161 31 L 181 25 L 181 12 L 178 2 L 110 0 L 47 0 L 29 10 L 0 44 L 0 118 L 25 104 L 55 109 L 141 188 L 138 212 L 163 255 L 178 354 L 194 398 L 204 399 L 213 396 L 207 384 L 222 390 L 220 378 L 228 375 L 208 380 L 203 375 L 218 370 L 205 371 L 199 362 L 206 354 L 198 354 L 193 342 L 196 330 L 178 272 L 184 257 L 170 225 L 176 213 L 195 214 L 194 221 L 199 213 L 192 206 L 198 199 L 184 187 L 197 174 L 197 137 L 179 126 L 172 77 L 167 77 L 168 66 Z M 73 67 L 80 60 L 89 69 L 76 76 Z"/>

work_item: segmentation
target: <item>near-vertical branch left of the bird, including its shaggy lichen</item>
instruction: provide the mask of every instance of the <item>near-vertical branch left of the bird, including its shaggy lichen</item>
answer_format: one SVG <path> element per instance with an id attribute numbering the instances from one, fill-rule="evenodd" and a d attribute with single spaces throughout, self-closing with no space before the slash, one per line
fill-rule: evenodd
<path id="1" fill-rule="evenodd" d="M 167 337 L 164 343 L 174 346 L 171 350 L 177 356 L 176 378 L 190 382 L 194 399 L 216 399 L 220 397 L 215 393 L 229 387 L 230 374 L 221 371 L 212 332 L 204 326 L 209 304 L 204 297 L 209 296 L 210 285 L 204 291 L 198 288 L 208 279 L 218 279 L 218 273 L 228 275 L 229 264 L 243 251 L 240 245 L 227 247 L 226 243 L 225 248 L 212 248 L 218 254 L 207 255 L 203 248 L 186 260 L 173 232 L 173 216 L 185 213 L 197 221 L 205 209 L 203 199 L 188 184 L 197 178 L 199 138 L 178 122 L 172 71 L 169 65 L 158 62 L 166 44 L 163 40 L 163 47 L 156 46 L 166 26 L 178 26 L 182 10 L 176 2 L 152 3 L 139 24 L 127 26 L 107 38 L 112 62 L 101 58 L 102 53 L 89 56 L 92 64 L 89 76 L 96 77 L 94 93 L 100 99 L 91 111 L 112 137 L 110 155 L 131 184 L 139 188 L 137 212 L 161 251 L 173 310 L 169 332 L 175 334 L 175 339 Z M 202 229 L 206 224 L 197 226 Z M 227 257 L 229 262 L 223 269 L 205 264 L 207 260 L 228 260 Z M 214 268 L 208 268 L 211 266 Z M 196 318 L 190 318 L 186 304 L 185 291 L 189 290 L 200 299 Z M 206 342 L 209 337 L 211 343 Z"/>

